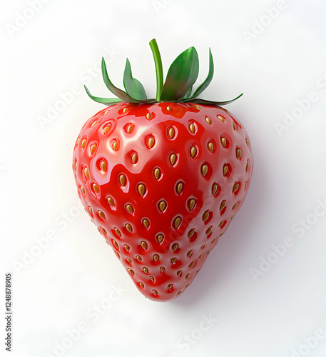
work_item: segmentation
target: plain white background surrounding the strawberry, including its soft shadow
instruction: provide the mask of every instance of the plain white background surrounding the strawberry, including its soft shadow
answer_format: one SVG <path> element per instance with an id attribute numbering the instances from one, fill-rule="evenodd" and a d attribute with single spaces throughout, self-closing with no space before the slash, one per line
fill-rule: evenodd
<path id="1" fill-rule="evenodd" d="M 326 356 L 325 14 L 325 0 L 2 1 L 1 356 Z M 165 73 L 195 46 L 200 80 L 212 49 L 204 97 L 245 93 L 227 109 L 248 130 L 255 159 L 243 208 L 169 303 L 138 293 L 78 205 L 71 171 L 81 126 L 103 108 L 81 86 L 107 96 L 98 61 L 106 57 L 121 86 L 128 56 L 154 96 L 153 38 Z M 291 246 L 277 255 L 272 246 L 284 241 Z"/>

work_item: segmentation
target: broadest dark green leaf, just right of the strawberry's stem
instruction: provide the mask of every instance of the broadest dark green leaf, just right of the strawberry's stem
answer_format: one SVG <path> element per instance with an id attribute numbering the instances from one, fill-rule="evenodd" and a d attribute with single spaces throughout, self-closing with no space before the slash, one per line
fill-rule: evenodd
<path id="1" fill-rule="evenodd" d="M 199 71 L 198 54 L 194 47 L 183 51 L 168 69 L 163 85 L 161 101 L 178 101 L 183 99 L 193 86 Z"/>

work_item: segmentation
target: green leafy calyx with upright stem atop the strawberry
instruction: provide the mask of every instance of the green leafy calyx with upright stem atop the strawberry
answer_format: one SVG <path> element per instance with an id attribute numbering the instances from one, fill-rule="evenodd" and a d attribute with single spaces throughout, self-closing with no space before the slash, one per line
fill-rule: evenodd
<path id="1" fill-rule="evenodd" d="M 214 74 L 214 63 L 213 56 L 209 49 L 209 69 L 208 76 L 205 81 L 203 81 L 200 86 L 198 86 L 195 91 L 193 91 L 193 85 L 198 78 L 199 73 L 199 59 L 198 53 L 195 47 L 189 47 L 183 51 L 170 65 L 168 69 L 168 74 L 166 75 L 165 81 L 163 81 L 163 67 L 161 54 L 158 49 L 158 44 L 156 39 L 150 41 L 151 50 L 153 53 L 153 58 L 156 68 L 156 99 L 148 99 L 146 96 L 146 91 L 138 79 L 133 78 L 131 71 L 131 64 L 129 60 L 126 60 L 126 66 L 123 73 L 123 86 L 125 91 L 118 89 L 108 77 L 108 71 L 106 69 L 106 62 L 102 58 L 102 76 L 106 87 L 116 98 L 101 98 L 93 96 L 86 86 L 85 90 L 88 96 L 101 104 L 106 106 L 111 106 L 113 104 L 118 104 L 121 101 L 127 101 L 130 103 L 138 104 L 153 104 L 162 101 L 168 102 L 178 102 L 178 103 L 194 103 L 203 105 L 217 105 L 223 106 L 230 104 L 236 99 L 240 98 L 243 94 L 240 94 L 235 99 L 230 101 L 207 101 L 205 99 L 200 99 L 198 96 L 203 93 L 203 91 L 208 87 L 213 79 Z"/>

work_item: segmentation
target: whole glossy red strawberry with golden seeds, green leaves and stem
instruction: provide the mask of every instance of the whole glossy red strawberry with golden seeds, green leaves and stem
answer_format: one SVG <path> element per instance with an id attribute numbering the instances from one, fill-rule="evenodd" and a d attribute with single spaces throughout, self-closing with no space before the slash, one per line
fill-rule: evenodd
<path id="1" fill-rule="evenodd" d="M 198 76 L 193 47 L 173 62 L 156 99 L 147 99 L 127 59 L 118 98 L 91 99 L 106 109 L 86 121 L 73 150 L 73 172 L 86 212 L 144 296 L 170 301 L 185 291 L 243 204 L 253 155 L 243 125 L 221 105 L 192 93 Z M 234 99 L 235 100 L 235 99 Z"/>

